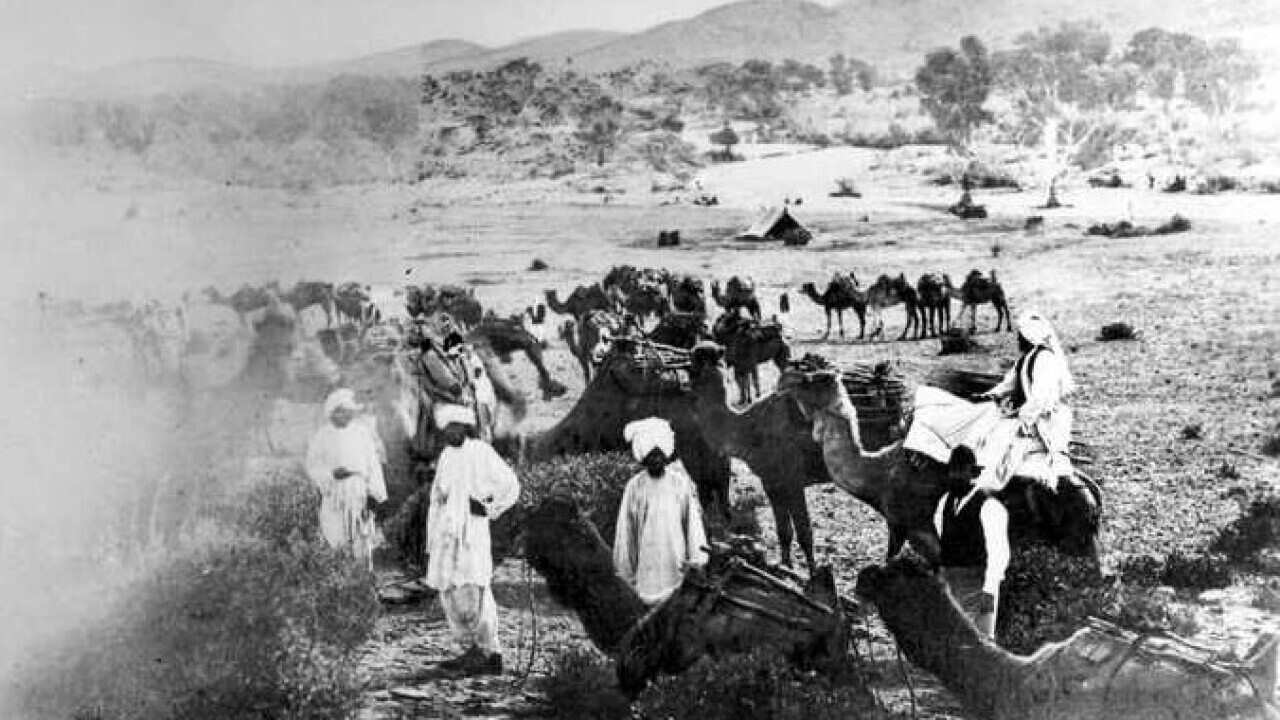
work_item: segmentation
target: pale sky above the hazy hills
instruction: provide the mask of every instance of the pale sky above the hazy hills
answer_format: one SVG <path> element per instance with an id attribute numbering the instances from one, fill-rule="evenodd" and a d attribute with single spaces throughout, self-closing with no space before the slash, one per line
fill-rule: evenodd
<path id="1" fill-rule="evenodd" d="M 0 64 L 88 69 L 196 56 L 296 65 L 442 37 L 503 45 L 563 29 L 637 31 L 726 1 L 0 0 Z"/>

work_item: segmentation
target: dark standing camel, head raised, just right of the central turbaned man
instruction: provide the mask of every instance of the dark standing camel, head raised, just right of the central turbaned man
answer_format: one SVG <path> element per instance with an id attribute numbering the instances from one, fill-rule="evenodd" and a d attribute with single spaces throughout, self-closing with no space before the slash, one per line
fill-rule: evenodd
<path id="1" fill-rule="evenodd" d="M 731 410 L 721 370 L 721 348 L 701 345 L 692 355 L 690 386 L 699 432 L 709 447 L 742 460 L 760 478 L 773 510 L 782 564 L 791 565 L 791 538 L 795 537 L 813 570 L 813 530 L 804 488 L 832 478 L 800 406 L 787 396 L 773 393 L 742 411 Z"/>

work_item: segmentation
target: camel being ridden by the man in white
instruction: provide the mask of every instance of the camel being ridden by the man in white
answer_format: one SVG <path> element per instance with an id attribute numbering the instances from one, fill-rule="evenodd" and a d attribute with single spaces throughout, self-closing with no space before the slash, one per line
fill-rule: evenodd
<path id="1" fill-rule="evenodd" d="M 895 441 L 865 450 L 858 414 L 840 377 L 829 370 L 788 370 L 778 392 L 796 398 L 813 418 L 813 437 L 822 445 L 835 483 L 861 500 L 888 523 L 888 552 L 895 557 L 908 539 L 931 562 L 938 557 L 933 511 L 945 492 L 946 466 Z M 997 497 L 1009 509 L 1014 542 L 1039 541 L 1062 552 L 1097 557 L 1102 495 L 1091 480 L 1076 478 L 1057 492 L 1034 480 L 1012 478 Z"/>

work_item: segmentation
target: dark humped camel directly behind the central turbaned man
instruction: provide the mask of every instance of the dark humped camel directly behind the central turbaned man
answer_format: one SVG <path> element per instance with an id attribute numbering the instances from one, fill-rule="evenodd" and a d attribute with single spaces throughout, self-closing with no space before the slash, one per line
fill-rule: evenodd
<path id="1" fill-rule="evenodd" d="M 704 439 L 694 415 L 698 400 L 678 372 L 658 365 L 641 350 L 632 338 L 614 340 L 568 415 L 534 439 L 532 459 L 628 450 L 622 438 L 627 423 L 663 418 L 676 430 L 676 455 L 698 486 L 703 507 L 708 515 L 727 518 L 728 456 Z"/>

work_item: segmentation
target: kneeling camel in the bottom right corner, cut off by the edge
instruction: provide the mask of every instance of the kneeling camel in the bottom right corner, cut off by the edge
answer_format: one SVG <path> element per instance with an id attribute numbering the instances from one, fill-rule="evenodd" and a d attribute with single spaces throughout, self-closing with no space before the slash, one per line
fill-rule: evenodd
<path id="1" fill-rule="evenodd" d="M 856 592 L 876 605 L 902 653 L 977 717 L 1280 717 L 1275 633 L 1242 662 L 1224 662 L 1175 635 L 1139 637 L 1091 619 L 1070 638 L 1020 656 L 979 633 L 918 564 L 865 568 Z"/>

